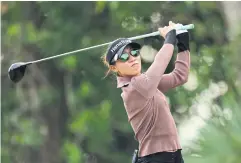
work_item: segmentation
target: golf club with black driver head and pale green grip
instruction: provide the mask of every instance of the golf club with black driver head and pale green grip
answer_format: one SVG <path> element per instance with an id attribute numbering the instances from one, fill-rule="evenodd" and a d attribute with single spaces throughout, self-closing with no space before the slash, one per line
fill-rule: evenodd
<path id="1" fill-rule="evenodd" d="M 180 25 L 179 24 L 175 27 L 176 30 L 188 30 L 188 29 L 193 29 L 193 28 L 194 28 L 194 24 L 189 24 L 189 25 Z M 149 33 L 149 34 L 131 37 L 129 39 L 130 40 L 137 40 L 137 39 L 142 39 L 142 38 L 145 38 L 145 37 L 157 36 L 159 34 L 160 34 L 159 31 L 157 31 L 157 32 Z M 47 57 L 47 58 L 43 58 L 43 59 L 39 59 L 39 60 L 35 60 L 35 61 L 17 62 L 17 63 L 12 64 L 9 67 L 8 76 L 14 83 L 17 83 L 23 78 L 23 76 L 25 74 L 25 70 L 26 70 L 27 66 L 30 65 L 30 64 L 39 63 L 39 62 L 55 59 L 55 58 L 58 58 L 58 57 L 74 54 L 74 53 L 77 53 L 77 52 L 82 52 L 82 51 L 102 47 L 102 46 L 105 46 L 105 45 L 109 45 L 111 43 L 112 42 L 108 42 L 108 43 L 104 43 L 104 44 L 100 44 L 100 45 L 95 45 L 95 46 L 91 46 L 91 47 L 88 47 L 88 48 L 83 48 L 83 49 L 79 49 L 79 50 L 75 50 L 75 51 L 71 51 L 71 52 L 66 52 L 66 53 L 63 53 L 63 54 L 59 54 L 59 55 L 55 55 L 55 56 L 52 56 L 52 57 Z"/>

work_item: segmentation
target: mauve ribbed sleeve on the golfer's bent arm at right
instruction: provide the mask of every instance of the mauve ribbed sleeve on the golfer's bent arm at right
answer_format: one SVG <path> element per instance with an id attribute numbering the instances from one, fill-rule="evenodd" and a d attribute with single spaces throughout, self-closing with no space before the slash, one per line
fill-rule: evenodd
<path id="1" fill-rule="evenodd" d="M 188 80 L 190 70 L 190 52 L 188 50 L 178 53 L 175 61 L 174 70 L 163 75 L 158 89 L 162 92 L 166 92 L 171 88 L 183 85 Z"/>

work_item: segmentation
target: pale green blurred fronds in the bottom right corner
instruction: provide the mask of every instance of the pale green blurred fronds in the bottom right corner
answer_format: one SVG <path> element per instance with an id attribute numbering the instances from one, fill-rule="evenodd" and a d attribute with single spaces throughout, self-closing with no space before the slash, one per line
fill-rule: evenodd
<path id="1" fill-rule="evenodd" d="M 238 163 L 241 160 L 241 113 L 240 109 L 229 109 L 219 112 L 207 122 L 201 130 L 201 136 L 186 154 L 187 162 L 197 163 Z"/>

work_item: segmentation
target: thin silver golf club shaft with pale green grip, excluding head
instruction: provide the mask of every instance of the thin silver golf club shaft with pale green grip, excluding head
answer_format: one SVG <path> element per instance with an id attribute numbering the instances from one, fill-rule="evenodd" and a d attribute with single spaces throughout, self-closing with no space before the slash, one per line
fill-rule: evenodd
<path id="1" fill-rule="evenodd" d="M 189 24 L 189 25 L 184 25 L 184 26 L 177 26 L 175 29 L 176 30 L 188 30 L 188 29 L 193 29 L 193 28 L 194 28 L 194 25 Z M 137 39 L 142 39 L 142 38 L 145 38 L 145 37 L 151 37 L 151 36 L 157 36 L 157 35 L 160 35 L 159 31 L 152 32 L 152 33 L 149 33 L 149 34 L 140 35 L 140 36 L 130 37 L 129 39 L 130 40 L 137 40 Z M 112 42 L 108 42 L 108 43 L 104 43 L 104 44 L 100 44 L 100 45 L 91 46 L 91 47 L 88 47 L 88 48 L 83 48 L 83 49 L 79 49 L 79 50 L 75 50 L 75 51 L 71 51 L 71 52 L 66 52 L 66 53 L 62 53 L 62 54 L 55 55 L 55 56 L 52 56 L 52 57 L 47 57 L 47 58 L 39 59 L 39 60 L 36 60 L 36 61 L 30 61 L 30 62 L 27 62 L 27 64 L 39 63 L 39 62 L 43 62 L 43 61 L 47 61 L 47 60 L 71 55 L 71 54 L 74 54 L 74 53 L 83 52 L 83 51 L 86 51 L 86 50 L 99 48 L 99 47 L 102 47 L 102 46 L 109 45 L 111 43 Z"/>

